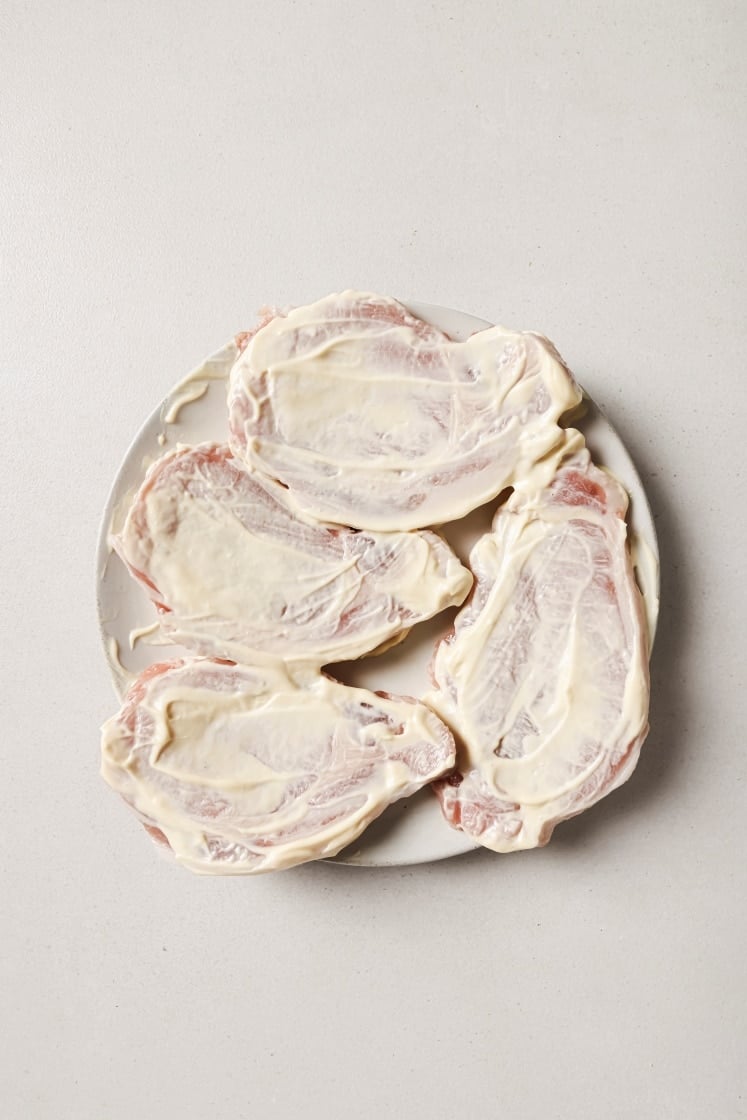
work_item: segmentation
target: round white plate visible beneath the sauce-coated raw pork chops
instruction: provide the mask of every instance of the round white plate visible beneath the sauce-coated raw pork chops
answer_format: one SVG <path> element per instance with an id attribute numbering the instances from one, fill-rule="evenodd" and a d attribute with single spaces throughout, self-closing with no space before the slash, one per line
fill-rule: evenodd
<path id="1" fill-rule="evenodd" d="M 484 319 L 430 304 L 408 302 L 408 307 L 457 339 L 491 325 Z M 109 534 L 112 526 L 121 523 L 129 500 L 153 459 L 177 444 L 227 439 L 226 377 L 235 357 L 232 342 L 171 390 L 134 437 L 112 485 L 99 536 L 96 598 L 104 652 L 120 698 L 133 674 L 155 661 L 179 657 L 186 651 L 171 643 L 150 644 L 158 640 L 157 634 L 144 635 L 132 647 L 133 632 L 156 623 L 157 614 L 142 588 L 111 551 Z M 576 426 L 586 436 L 595 460 L 611 470 L 631 495 L 631 541 L 653 641 L 659 605 L 659 550 L 653 517 L 622 440 L 594 402 L 587 401 L 587 404 L 585 417 Z M 495 502 L 488 503 L 467 517 L 442 526 L 443 535 L 464 561 L 477 538 L 489 529 L 495 506 Z M 429 685 L 427 670 L 436 640 L 451 625 L 455 614 L 455 610 L 443 612 L 417 626 L 401 645 L 387 653 L 335 665 L 330 674 L 347 684 L 374 691 L 383 689 L 421 696 Z M 362 867 L 420 864 L 457 856 L 474 847 L 468 837 L 446 823 L 430 790 L 422 790 L 414 797 L 387 809 L 354 844 L 336 857 L 336 861 Z"/>

